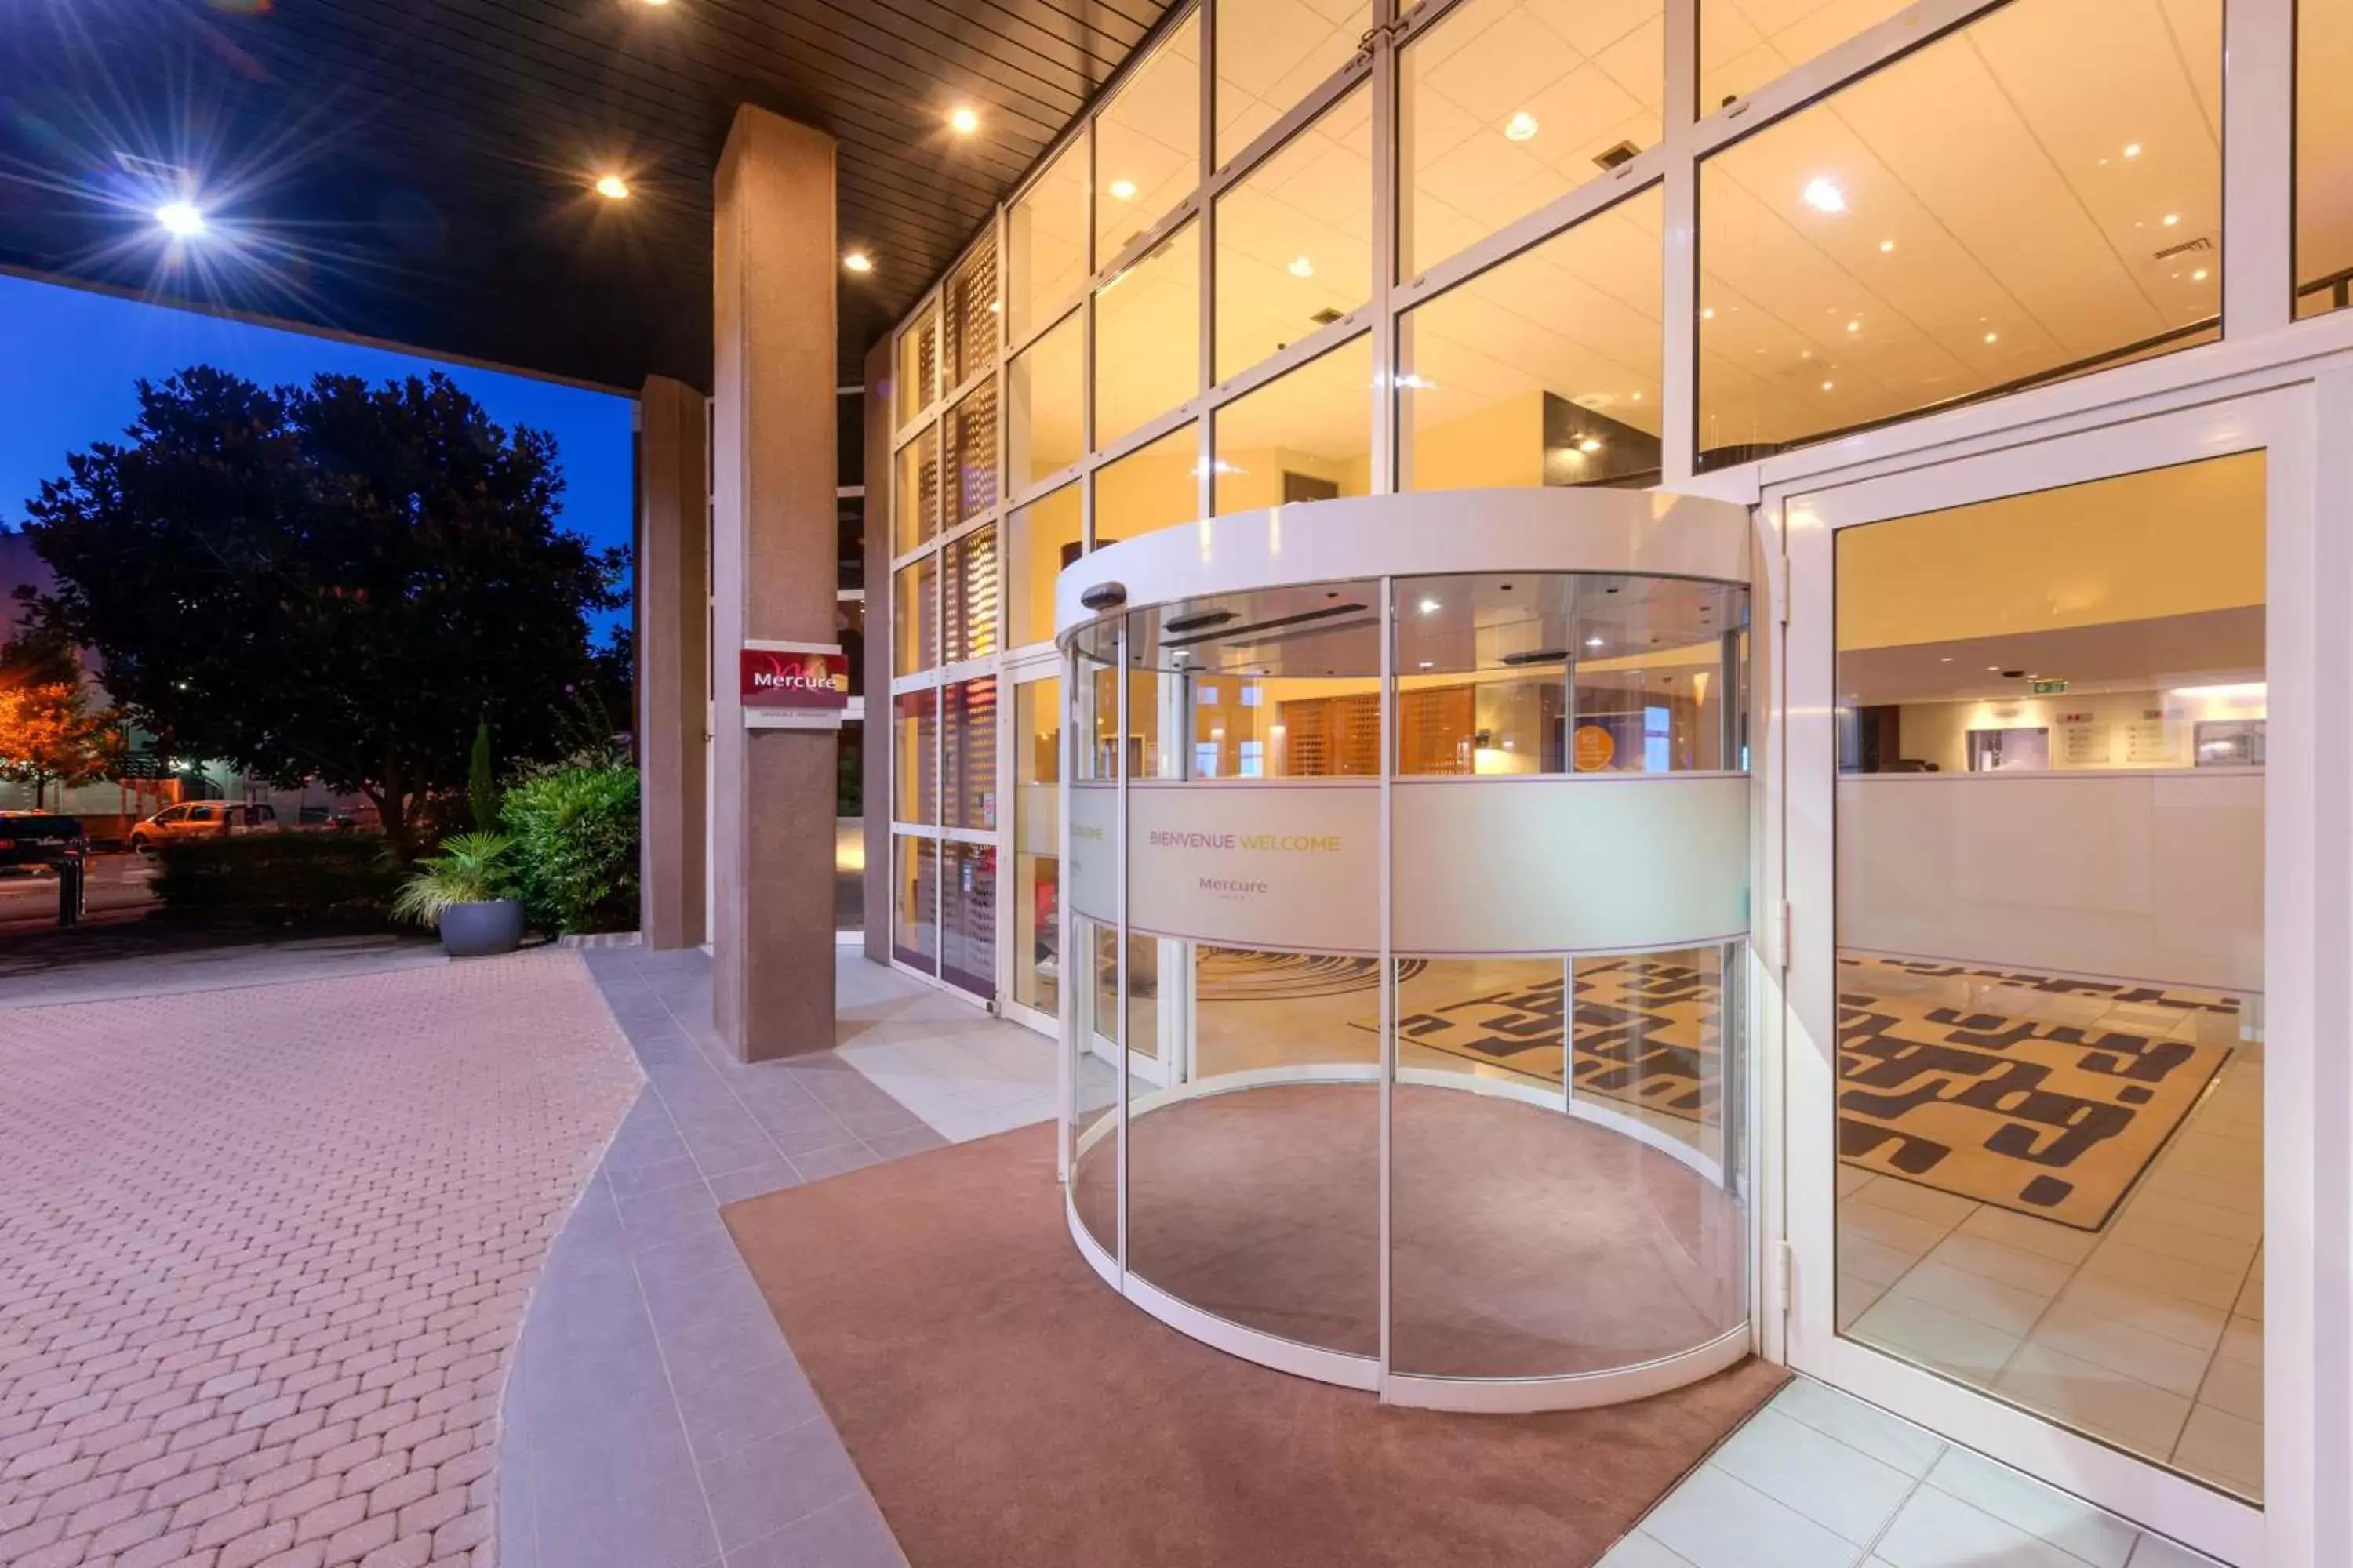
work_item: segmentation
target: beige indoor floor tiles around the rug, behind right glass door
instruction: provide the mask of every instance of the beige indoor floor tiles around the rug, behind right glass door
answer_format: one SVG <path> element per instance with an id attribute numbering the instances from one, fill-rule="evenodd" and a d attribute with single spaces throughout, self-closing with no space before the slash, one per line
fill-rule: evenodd
<path id="1" fill-rule="evenodd" d="M 2240 1041 L 2233 1020 L 2162 1023 L 2219 1027 L 2233 1056 L 2104 1232 L 1840 1168 L 1838 1321 L 1859 1340 L 2261 1497 L 2264 1048 Z"/>

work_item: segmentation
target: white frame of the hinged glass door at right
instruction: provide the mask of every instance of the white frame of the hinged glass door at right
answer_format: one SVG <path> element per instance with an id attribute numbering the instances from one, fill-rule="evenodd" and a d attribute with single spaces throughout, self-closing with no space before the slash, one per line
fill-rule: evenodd
<path id="1" fill-rule="evenodd" d="M 2212 395 L 2212 393 L 2207 393 Z M 1777 766 L 1781 802 L 1781 886 L 1788 898 L 1788 938 L 1774 961 L 1784 973 L 1784 1039 L 1779 1051 L 1781 1117 L 1774 1164 L 1786 1204 L 1779 1234 L 1788 1241 L 1786 1309 L 1769 1324 L 1767 1345 L 1781 1340 L 1791 1366 L 1835 1382 L 1899 1415 L 1918 1420 L 1969 1448 L 2073 1490 L 2115 1514 L 2184 1540 L 2228 1563 L 2289 1568 L 2311 1563 L 2313 1490 L 2341 1490 L 2341 1476 L 2315 1474 L 2313 1432 L 2315 1293 L 2311 1248 L 2301 1274 L 2289 1253 L 2313 1237 L 2315 1220 L 2315 1100 L 2313 987 L 2315 907 L 2313 858 L 2322 844 L 2346 839 L 2346 825 L 2322 827 L 2315 806 L 2341 802 L 2315 769 L 2320 736 L 2315 628 L 2344 621 L 2334 585 L 2315 571 L 2313 524 L 2313 383 L 2249 393 L 2228 402 L 2198 402 L 2195 393 L 2165 400 L 2132 418 L 2033 440 L 2009 433 L 1962 456 L 1922 456 L 1913 465 L 1875 468 L 1871 477 L 1788 482 L 1767 487 L 1760 522 L 1779 536 L 1786 571 L 1774 602 L 1788 607 L 1781 639 L 1786 691 L 1779 703 Z M 2120 473 L 2268 451 L 2266 595 L 2271 682 L 2271 766 L 2266 771 L 2266 1495 L 2264 1509 L 2224 1497 L 2167 1469 L 2125 1455 L 2000 1403 L 1988 1394 L 1915 1368 L 1835 1333 L 1835 924 L 1833 924 L 1833 788 L 1835 788 L 1835 651 L 1831 559 L 1842 527 L 1906 517 L 1998 496 L 2078 484 Z M 1769 555 L 1769 552 L 1767 552 Z M 2341 703 L 2341 696 L 2337 698 Z M 2341 722 L 2339 722 L 2341 729 Z M 2285 738 L 2285 743 L 2282 743 Z M 2341 811 L 2339 806 L 2332 806 Z M 2341 858 L 2339 858 L 2341 865 Z M 1769 875 L 1769 870 L 1767 870 Z M 1769 886 L 1769 882 L 1767 882 Z M 2339 1126 L 2339 1138 L 2344 1128 Z M 1765 1232 L 1777 1234 L 1774 1229 Z M 2337 1401 L 2348 1396 L 2337 1389 Z M 2268 1528 L 2266 1528 L 2268 1526 Z"/>

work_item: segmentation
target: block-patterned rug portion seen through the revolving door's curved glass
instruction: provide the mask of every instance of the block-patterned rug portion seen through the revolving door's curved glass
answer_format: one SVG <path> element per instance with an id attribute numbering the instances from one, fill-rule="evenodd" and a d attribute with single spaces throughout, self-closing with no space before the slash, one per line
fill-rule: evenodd
<path id="1" fill-rule="evenodd" d="M 1534 973 L 1537 966 L 1529 966 Z M 1473 992 L 1428 1009 L 1407 1006 L 1402 1039 L 1489 1067 L 1560 1081 L 1560 971 L 1527 985 Z M 1381 1020 L 1351 1020 L 1379 1032 Z M 1715 1119 L 1718 987 L 1666 959 L 1602 959 L 1577 966 L 1577 1093 L 1659 1110 L 1682 1121 Z"/>

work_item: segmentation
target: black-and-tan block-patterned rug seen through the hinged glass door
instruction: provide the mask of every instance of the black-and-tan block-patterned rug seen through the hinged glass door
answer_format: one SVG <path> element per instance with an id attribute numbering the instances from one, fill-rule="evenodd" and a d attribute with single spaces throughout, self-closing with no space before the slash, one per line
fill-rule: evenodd
<path id="1" fill-rule="evenodd" d="M 1842 957 L 1838 1157 L 2101 1229 L 2231 1051 L 2214 992 Z"/>

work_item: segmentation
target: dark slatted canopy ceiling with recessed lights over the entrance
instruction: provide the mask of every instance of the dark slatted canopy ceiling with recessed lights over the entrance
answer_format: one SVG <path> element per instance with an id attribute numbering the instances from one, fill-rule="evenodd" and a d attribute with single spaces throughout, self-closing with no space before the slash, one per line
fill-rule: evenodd
<path id="1" fill-rule="evenodd" d="M 1167 0 L 9 0 L 0 268 L 633 390 L 711 383 L 736 103 L 840 141 L 842 381 Z M 981 115 L 974 136 L 948 110 Z M 169 263 L 193 169 L 214 221 Z M 626 202 L 588 193 L 607 169 Z M 0 329 L 0 341 L 5 341 Z"/>

